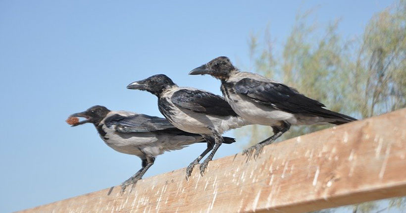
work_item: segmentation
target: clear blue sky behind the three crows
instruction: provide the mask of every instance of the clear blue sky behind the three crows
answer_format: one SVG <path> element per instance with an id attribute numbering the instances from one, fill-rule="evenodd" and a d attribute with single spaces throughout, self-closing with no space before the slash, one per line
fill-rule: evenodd
<path id="1" fill-rule="evenodd" d="M 0 212 L 117 185 L 140 168 L 137 157 L 107 147 L 92 125 L 69 127 L 69 114 L 104 105 L 161 116 L 154 96 L 125 86 L 164 73 L 220 94 L 215 79 L 187 73 L 219 55 L 249 64 L 251 33 L 269 26 L 278 54 L 297 12 L 317 8 L 309 20 L 325 26 L 340 18 L 339 32 L 356 38 L 392 3 L 0 0 Z M 222 146 L 216 157 L 243 146 Z M 158 156 L 145 177 L 185 167 L 203 149 Z"/>

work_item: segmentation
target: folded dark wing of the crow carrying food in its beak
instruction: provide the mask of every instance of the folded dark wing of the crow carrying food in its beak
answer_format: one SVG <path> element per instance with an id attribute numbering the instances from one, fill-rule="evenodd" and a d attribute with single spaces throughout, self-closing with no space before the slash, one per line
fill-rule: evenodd
<path id="1" fill-rule="evenodd" d="M 114 114 L 104 120 L 107 127 L 116 125 L 116 131 L 128 132 L 155 132 L 160 130 L 177 130 L 168 120 L 145 114 L 123 116 Z"/>

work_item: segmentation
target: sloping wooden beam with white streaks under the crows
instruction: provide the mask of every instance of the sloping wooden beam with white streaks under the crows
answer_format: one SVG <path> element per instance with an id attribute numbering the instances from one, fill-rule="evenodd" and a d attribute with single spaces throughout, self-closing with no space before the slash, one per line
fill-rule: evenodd
<path id="1" fill-rule="evenodd" d="M 226 146 L 226 145 L 224 145 Z M 225 147 L 223 147 L 225 149 Z M 221 149 L 221 148 L 220 148 Z M 22 212 L 303 213 L 406 195 L 406 109 Z"/>

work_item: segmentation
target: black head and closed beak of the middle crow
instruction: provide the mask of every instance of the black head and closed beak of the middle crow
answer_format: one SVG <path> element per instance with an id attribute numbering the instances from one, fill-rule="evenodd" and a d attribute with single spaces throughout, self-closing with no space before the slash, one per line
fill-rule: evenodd
<path id="1" fill-rule="evenodd" d="M 175 83 L 166 75 L 158 74 L 152 75 L 149 78 L 140 81 L 134 81 L 127 86 L 131 90 L 146 90 L 155 96 L 159 97 L 160 94 L 166 89 L 176 86 Z"/>

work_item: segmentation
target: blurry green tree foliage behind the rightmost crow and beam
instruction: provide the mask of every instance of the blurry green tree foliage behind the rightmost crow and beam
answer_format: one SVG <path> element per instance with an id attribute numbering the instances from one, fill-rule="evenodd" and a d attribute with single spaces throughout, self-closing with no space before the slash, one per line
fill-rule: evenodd
<path id="1" fill-rule="evenodd" d="M 339 21 L 322 30 L 308 24 L 310 15 L 297 15 L 281 53 L 274 53 L 269 30 L 265 30 L 262 43 L 252 35 L 251 66 L 245 70 L 282 81 L 331 110 L 359 119 L 406 107 L 406 0 L 375 14 L 363 34 L 353 40 L 340 36 Z M 292 127 L 282 140 L 328 127 Z M 249 145 L 253 145 L 271 135 L 272 130 L 254 125 L 238 134 L 249 137 Z M 390 199 L 383 208 L 379 204 L 367 202 L 347 210 L 378 213 L 390 208 L 405 209 L 406 198 Z"/>

